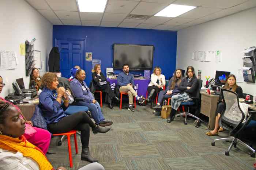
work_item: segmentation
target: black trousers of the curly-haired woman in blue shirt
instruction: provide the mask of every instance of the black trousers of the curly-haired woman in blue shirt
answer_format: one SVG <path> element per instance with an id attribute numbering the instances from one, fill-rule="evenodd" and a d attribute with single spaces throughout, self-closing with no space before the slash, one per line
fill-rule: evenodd
<path id="1" fill-rule="evenodd" d="M 95 128 L 96 125 L 86 112 L 78 112 L 63 117 L 57 123 L 47 125 L 48 131 L 53 134 L 65 133 L 71 130 L 81 131 L 81 142 L 83 148 L 88 148 L 90 139 L 90 127 Z"/>

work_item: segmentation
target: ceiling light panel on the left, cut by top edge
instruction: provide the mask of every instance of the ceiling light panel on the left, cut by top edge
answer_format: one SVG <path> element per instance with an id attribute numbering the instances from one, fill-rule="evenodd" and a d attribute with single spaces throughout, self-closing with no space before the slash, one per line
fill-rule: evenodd
<path id="1" fill-rule="evenodd" d="M 77 0 L 80 12 L 104 12 L 107 0 Z"/>

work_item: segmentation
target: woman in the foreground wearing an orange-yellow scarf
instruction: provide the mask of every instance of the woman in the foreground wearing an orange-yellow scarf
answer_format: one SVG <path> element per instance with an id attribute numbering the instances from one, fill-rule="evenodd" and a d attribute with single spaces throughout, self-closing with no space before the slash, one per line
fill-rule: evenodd
<path id="1" fill-rule="evenodd" d="M 0 101 L 0 170 L 54 170 L 44 153 L 23 136 L 25 120 L 19 114 L 15 107 Z M 104 169 L 99 163 L 92 164 L 91 170 Z M 86 169 L 85 166 L 81 170 Z M 58 170 L 66 169 L 59 167 Z"/>

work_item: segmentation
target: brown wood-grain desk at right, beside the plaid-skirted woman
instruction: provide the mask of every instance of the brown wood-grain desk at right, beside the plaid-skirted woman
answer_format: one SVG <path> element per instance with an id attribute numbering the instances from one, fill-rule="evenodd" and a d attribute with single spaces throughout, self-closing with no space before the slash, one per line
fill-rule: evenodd
<path id="1" fill-rule="evenodd" d="M 215 111 L 217 108 L 217 102 L 219 95 L 208 94 L 204 90 L 200 91 L 201 94 L 201 109 L 200 112 L 209 117 L 208 128 L 214 129 L 215 127 Z"/>

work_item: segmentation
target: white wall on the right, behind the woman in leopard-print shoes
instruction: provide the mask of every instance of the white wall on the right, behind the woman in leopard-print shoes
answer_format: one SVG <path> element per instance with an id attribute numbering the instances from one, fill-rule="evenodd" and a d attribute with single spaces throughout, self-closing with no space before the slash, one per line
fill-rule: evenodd
<path id="1" fill-rule="evenodd" d="M 203 85 L 205 76 L 215 78 L 215 71 L 229 71 L 236 75 L 243 66 L 240 53 L 242 50 L 256 46 L 256 8 L 235 13 L 224 18 L 188 27 L 178 31 L 176 67 L 187 66 L 202 70 Z M 192 61 L 193 51 L 220 50 L 221 62 Z M 255 83 L 238 83 L 244 93 L 256 94 Z"/>

